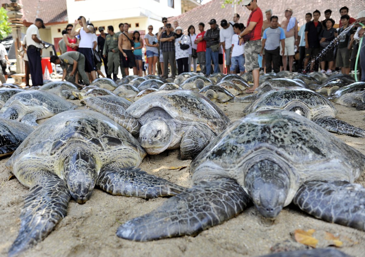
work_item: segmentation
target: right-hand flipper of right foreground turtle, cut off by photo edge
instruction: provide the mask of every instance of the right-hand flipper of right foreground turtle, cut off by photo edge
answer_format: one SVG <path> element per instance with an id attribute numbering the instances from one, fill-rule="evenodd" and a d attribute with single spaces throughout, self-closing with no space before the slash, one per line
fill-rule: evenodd
<path id="1" fill-rule="evenodd" d="M 304 183 L 293 202 L 324 221 L 365 230 L 365 188 L 344 181 Z"/>

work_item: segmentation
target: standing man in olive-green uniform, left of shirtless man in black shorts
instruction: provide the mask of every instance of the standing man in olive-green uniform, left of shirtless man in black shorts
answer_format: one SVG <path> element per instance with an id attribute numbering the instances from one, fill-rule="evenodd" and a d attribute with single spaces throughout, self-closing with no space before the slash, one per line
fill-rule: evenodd
<path id="1" fill-rule="evenodd" d="M 114 27 L 108 26 L 108 35 L 105 37 L 105 44 L 103 49 L 103 56 L 108 56 L 108 70 L 107 78 L 111 78 L 113 72 L 113 79 L 116 81 L 118 78 L 118 67 L 120 65 L 119 49 L 118 49 L 118 36 L 114 33 Z"/>

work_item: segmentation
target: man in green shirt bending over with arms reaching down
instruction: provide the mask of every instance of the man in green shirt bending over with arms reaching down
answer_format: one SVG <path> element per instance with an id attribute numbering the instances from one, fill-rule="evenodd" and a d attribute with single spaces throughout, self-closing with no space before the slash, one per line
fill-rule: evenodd
<path id="1" fill-rule="evenodd" d="M 62 80 L 68 77 L 66 80 L 70 82 L 74 82 L 76 70 L 78 74 L 80 74 L 82 81 L 86 86 L 90 85 L 90 81 L 88 76 L 85 73 L 85 56 L 77 51 L 69 51 L 61 54 L 57 57 L 57 55 L 52 55 L 50 58 L 51 63 L 61 65 L 64 70 L 64 75 Z"/>

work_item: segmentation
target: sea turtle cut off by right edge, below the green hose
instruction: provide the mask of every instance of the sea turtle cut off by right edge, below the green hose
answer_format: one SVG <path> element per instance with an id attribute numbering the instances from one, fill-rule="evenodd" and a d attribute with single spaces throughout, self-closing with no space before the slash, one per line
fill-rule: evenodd
<path id="1" fill-rule="evenodd" d="M 358 110 L 365 110 L 365 82 L 354 82 L 335 91 L 331 101 L 343 106 L 353 106 Z"/>

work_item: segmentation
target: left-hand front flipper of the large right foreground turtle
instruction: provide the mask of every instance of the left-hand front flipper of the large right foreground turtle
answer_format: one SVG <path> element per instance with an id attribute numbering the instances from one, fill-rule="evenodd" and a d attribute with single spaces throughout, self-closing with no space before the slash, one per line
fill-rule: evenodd
<path id="1" fill-rule="evenodd" d="M 249 196 L 233 179 L 202 181 L 156 210 L 127 221 L 116 234 L 133 241 L 196 235 L 238 215 L 249 202 Z"/>

